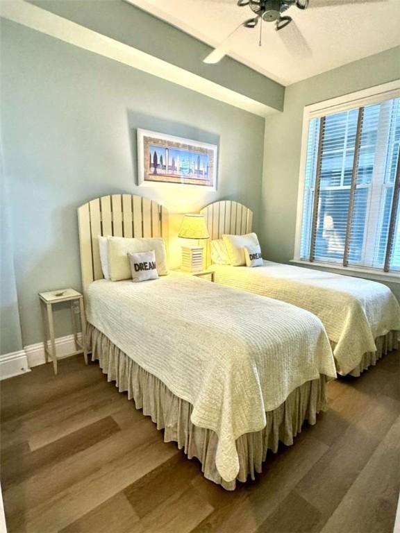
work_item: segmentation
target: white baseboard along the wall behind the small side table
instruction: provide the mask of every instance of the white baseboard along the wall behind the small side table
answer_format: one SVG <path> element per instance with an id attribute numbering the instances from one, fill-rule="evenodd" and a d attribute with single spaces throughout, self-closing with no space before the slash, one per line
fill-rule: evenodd
<path id="1" fill-rule="evenodd" d="M 82 335 L 78 334 L 78 340 L 81 341 Z M 59 357 L 63 357 L 75 350 L 74 335 L 58 337 L 56 339 L 56 352 Z M 5 353 L 0 355 L 0 380 L 13 378 L 15 375 L 30 372 L 33 366 L 44 364 L 44 345 L 30 344 L 24 346 L 24 350 L 18 352 Z"/>

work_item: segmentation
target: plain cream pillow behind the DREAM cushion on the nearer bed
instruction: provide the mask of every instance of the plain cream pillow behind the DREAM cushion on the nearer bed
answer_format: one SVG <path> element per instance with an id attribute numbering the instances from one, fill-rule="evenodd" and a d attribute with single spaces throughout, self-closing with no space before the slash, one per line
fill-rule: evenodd
<path id="1" fill-rule="evenodd" d="M 128 253 L 149 252 L 156 254 L 158 276 L 166 276 L 167 251 L 164 239 L 108 237 L 108 269 L 112 281 L 128 280 L 131 278 L 131 267 Z"/>

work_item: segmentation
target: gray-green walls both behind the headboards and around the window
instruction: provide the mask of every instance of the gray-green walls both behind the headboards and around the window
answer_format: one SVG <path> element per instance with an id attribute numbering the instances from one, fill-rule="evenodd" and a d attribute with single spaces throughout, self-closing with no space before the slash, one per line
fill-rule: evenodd
<path id="1" fill-rule="evenodd" d="M 1 353 L 41 340 L 38 291 L 80 288 L 76 208 L 90 198 L 129 192 L 172 212 L 235 199 L 255 212 L 265 255 L 288 262 L 304 105 L 400 77 L 399 49 L 360 60 L 288 87 L 285 111 L 264 125 L 260 117 L 12 22 L 1 21 L 0 50 L 2 185 L 8 185 L 0 203 Z M 217 192 L 137 187 L 138 127 L 217 143 Z M 398 297 L 399 287 L 391 285 Z M 57 312 L 56 325 L 56 335 L 70 332 L 67 310 Z"/>

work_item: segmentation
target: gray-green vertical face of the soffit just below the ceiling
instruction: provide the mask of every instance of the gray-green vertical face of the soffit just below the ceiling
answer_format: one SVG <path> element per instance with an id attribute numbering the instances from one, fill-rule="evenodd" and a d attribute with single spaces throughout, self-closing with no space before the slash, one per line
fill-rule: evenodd
<path id="1" fill-rule="evenodd" d="M 212 50 L 210 46 L 123 0 L 28 1 L 274 109 L 283 109 L 282 85 L 228 56 L 218 65 L 206 65 L 203 58 Z"/>

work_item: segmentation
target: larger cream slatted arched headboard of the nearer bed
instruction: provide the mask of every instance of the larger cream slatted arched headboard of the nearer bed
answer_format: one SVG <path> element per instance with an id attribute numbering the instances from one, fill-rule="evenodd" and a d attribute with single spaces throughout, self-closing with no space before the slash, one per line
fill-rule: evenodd
<path id="1" fill-rule="evenodd" d="M 78 208 L 83 292 L 103 278 L 98 235 L 163 237 L 168 246 L 168 212 L 157 202 L 132 194 L 102 196 Z"/>

